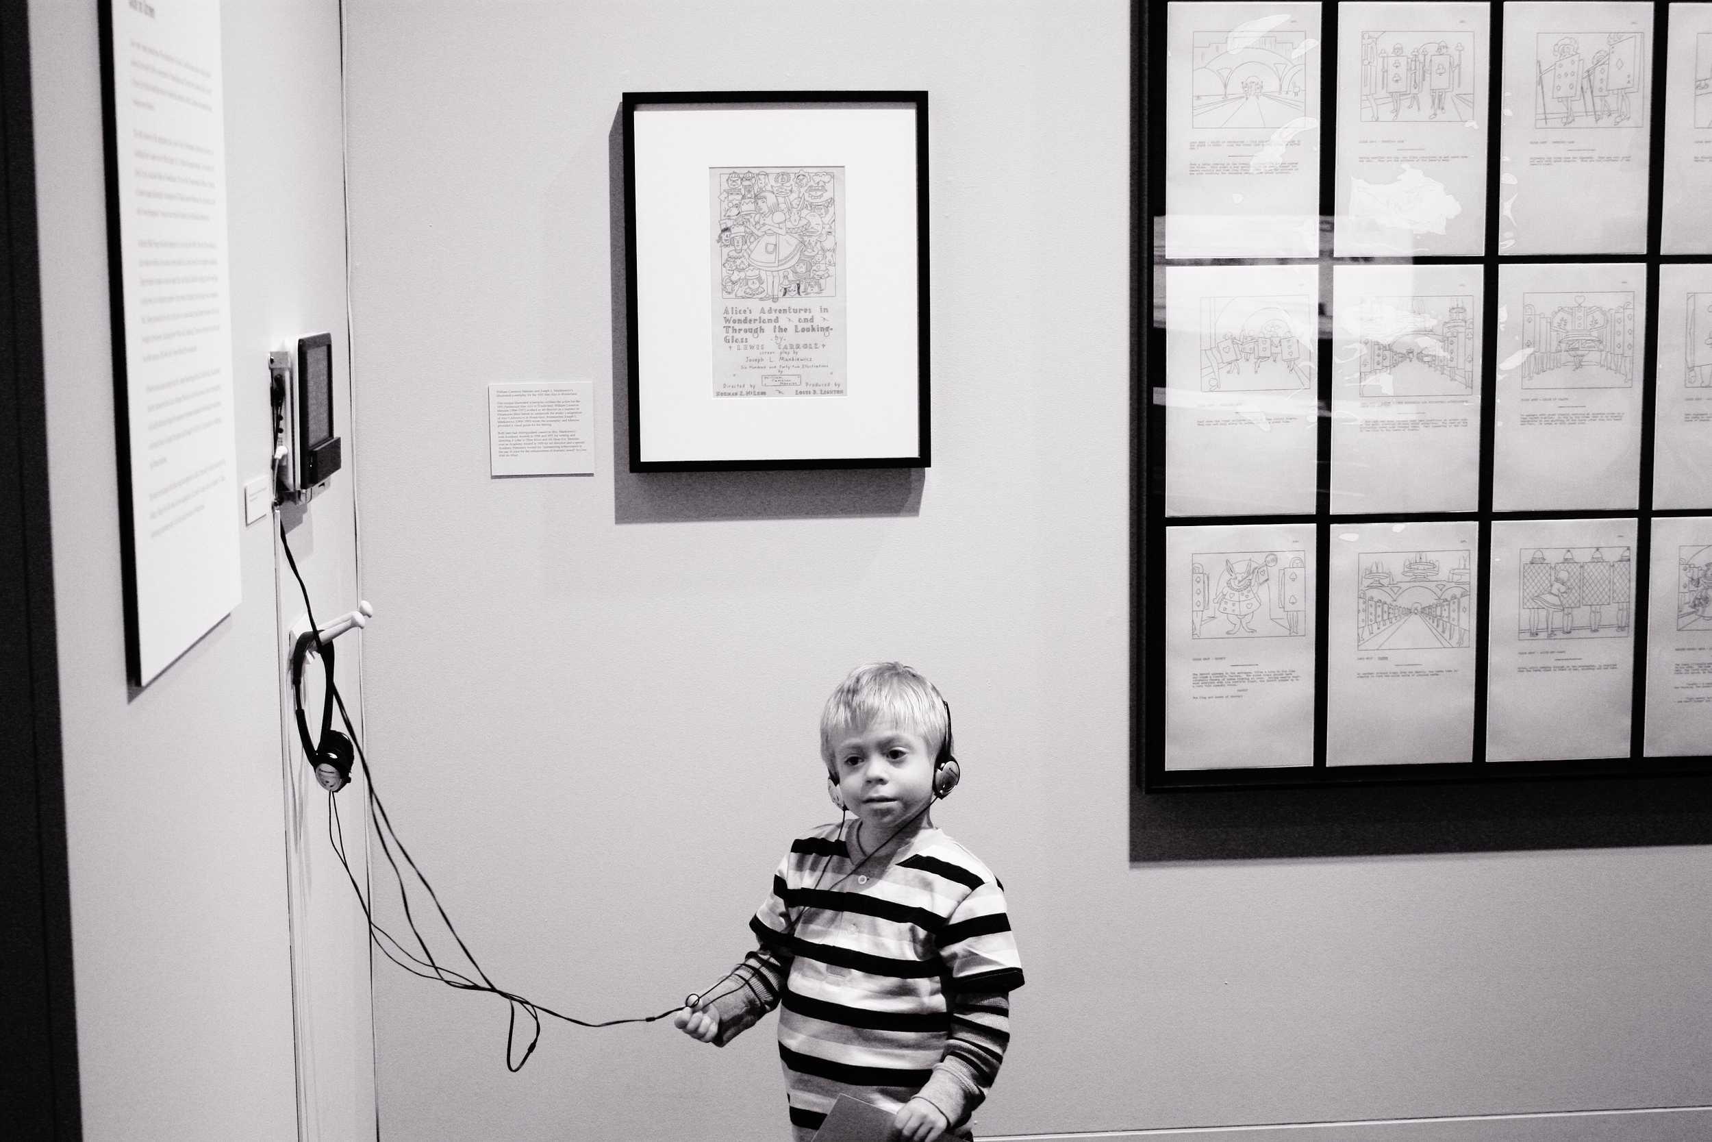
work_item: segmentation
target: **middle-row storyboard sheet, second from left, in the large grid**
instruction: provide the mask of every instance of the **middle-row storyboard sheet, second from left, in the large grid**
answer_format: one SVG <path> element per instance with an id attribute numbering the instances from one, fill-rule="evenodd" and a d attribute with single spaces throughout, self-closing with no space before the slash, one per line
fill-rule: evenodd
<path id="1" fill-rule="evenodd" d="M 1332 269 L 1332 512 L 1472 512 L 1479 265 Z"/>

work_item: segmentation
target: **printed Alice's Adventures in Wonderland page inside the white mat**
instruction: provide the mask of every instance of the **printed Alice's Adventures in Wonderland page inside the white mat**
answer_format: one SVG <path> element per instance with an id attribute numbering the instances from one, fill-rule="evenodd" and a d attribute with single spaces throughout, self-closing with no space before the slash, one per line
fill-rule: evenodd
<path id="1" fill-rule="evenodd" d="M 844 168 L 710 170 L 714 396 L 846 396 Z"/>

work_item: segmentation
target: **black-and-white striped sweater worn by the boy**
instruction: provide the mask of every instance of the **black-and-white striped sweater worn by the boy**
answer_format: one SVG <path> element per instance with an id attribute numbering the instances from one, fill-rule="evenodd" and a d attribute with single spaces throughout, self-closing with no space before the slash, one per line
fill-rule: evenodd
<path id="1" fill-rule="evenodd" d="M 1008 993 L 1022 986 L 1003 885 L 940 829 L 846 878 L 854 866 L 835 824 L 791 842 L 750 919 L 757 949 L 705 1002 L 719 1014 L 714 1043 L 781 1008 L 796 1142 L 839 1094 L 894 1111 L 921 1096 L 948 1137 L 971 1137 L 964 1123 L 998 1077 Z"/>

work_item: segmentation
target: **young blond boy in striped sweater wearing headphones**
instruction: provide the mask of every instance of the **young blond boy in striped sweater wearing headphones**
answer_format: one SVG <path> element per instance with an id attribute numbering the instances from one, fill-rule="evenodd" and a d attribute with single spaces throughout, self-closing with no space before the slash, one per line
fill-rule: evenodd
<path id="1" fill-rule="evenodd" d="M 724 1046 L 774 1007 L 794 1142 L 839 1094 L 906 1142 L 971 1139 L 998 1077 L 1022 964 L 1003 885 L 928 810 L 957 784 L 950 707 L 901 663 L 858 666 L 820 716 L 846 817 L 791 842 L 750 919 L 758 947 L 673 1017 Z M 726 983 L 731 981 L 731 983 Z"/>

